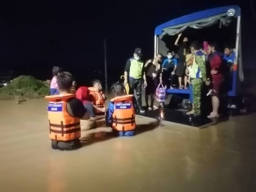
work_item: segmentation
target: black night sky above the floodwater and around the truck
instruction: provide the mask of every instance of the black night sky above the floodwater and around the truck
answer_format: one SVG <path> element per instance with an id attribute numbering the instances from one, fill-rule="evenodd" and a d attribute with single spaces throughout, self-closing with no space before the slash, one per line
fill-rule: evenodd
<path id="1" fill-rule="evenodd" d="M 9 1 L 0 5 L 0 64 L 15 75 L 51 79 L 53 66 L 80 83 L 104 79 L 103 39 L 108 76 L 117 81 L 134 48 L 144 59 L 154 50 L 154 28 L 173 18 L 225 5 L 242 12 L 244 67 L 256 68 L 256 3 L 253 0 Z M 254 6 L 254 7 L 253 7 Z"/>

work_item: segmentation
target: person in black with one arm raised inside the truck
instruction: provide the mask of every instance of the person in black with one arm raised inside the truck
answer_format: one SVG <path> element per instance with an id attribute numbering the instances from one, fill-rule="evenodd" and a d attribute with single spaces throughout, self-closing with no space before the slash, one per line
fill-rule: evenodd
<path id="1" fill-rule="evenodd" d="M 179 77 L 179 89 L 182 89 L 182 77 L 185 74 L 186 69 L 186 54 L 189 53 L 189 44 L 188 44 L 188 38 L 184 37 L 182 44 L 178 44 L 178 41 L 180 40 L 181 33 L 178 35 L 178 38 L 175 41 L 175 46 L 178 46 L 178 52 L 179 55 L 179 62 L 177 64 L 177 72 L 176 75 Z M 187 89 L 187 76 L 184 76 L 184 88 Z"/>

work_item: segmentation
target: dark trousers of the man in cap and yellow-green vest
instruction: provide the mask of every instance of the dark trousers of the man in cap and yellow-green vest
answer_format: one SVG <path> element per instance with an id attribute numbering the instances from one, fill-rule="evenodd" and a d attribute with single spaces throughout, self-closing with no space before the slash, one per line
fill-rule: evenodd
<path id="1" fill-rule="evenodd" d="M 129 85 L 130 85 L 129 94 L 134 95 L 134 90 L 136 90 L 137 105 L 138 105 L 138 107 L 141 107 L 142 106 L 142 100 L 141 100 L 142 79 L 134 79 L 134 78 L 130 77 L 129 78 Z"/>

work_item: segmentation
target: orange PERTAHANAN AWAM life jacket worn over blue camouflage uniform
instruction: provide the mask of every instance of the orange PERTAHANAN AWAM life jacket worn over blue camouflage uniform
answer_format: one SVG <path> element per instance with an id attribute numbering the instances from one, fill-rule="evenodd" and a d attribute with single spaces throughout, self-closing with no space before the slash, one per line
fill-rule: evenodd
<path id="1" fill-rule="evenodd" d="M 111 99 L 114 102 L 113 129 L 117 131 L 131 131 L 136 127 L 135 110 L 132 101 L 133 95 L 117 96 Z"/>

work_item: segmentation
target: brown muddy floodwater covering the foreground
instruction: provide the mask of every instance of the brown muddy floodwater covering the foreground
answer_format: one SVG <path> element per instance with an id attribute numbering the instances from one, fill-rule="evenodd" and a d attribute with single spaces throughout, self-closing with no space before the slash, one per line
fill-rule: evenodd
<path id="1" fill-rule="evenodd" d="M 96 128 L 59 151 L 44 99 L 0 106 L 0 192 L 256 191 L 256 114 L 201 130 L 137 117 L 134 137 Z"/>

